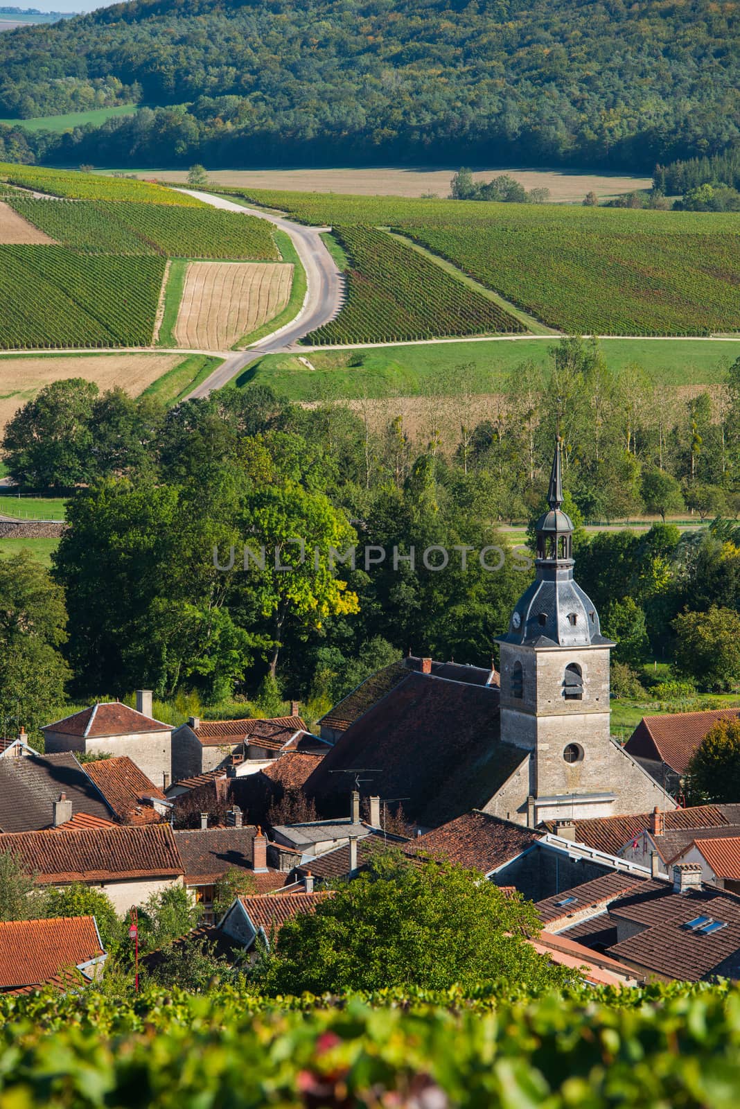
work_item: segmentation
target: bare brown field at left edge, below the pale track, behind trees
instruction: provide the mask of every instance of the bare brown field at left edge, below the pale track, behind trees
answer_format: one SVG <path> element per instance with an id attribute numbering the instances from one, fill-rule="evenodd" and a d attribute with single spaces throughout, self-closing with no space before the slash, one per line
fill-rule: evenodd
<path id="1" fill-rule="evenodd" d="M 183 360 L 178 354 L 96 354 L 84 357 L 0 358 L 0 427 L 39 389 L 65 377 L 95 381 L 101 391 L 119 385 L 131 397 Z"/>

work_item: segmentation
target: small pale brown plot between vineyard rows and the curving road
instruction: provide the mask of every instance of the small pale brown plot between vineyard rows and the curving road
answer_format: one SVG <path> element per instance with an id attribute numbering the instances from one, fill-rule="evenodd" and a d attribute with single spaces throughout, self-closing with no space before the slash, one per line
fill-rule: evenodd
<path id="1" fill-rule="evenodd" d="M 292 265 L 284 262 L 191 262 L 177 313 L 177 346 L 224 350 L 288 303 Z"/>

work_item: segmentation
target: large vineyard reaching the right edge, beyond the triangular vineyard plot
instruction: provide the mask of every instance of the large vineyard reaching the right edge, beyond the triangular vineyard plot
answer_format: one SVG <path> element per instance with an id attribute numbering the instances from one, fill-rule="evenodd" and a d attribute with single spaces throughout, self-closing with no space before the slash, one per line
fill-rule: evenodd
<path id="1" fill-rule="evenodd" d="M 238 192 L 312 225 L 392 227 L 562 330 L 740 330 L 734 213 Z"/>

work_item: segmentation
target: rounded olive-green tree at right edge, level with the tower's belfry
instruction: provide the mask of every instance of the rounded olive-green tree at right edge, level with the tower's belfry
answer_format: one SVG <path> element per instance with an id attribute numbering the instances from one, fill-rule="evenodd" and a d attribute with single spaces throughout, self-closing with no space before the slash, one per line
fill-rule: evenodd
<path id="1" fill-rule="evenodd" d="M 676 670 L 700 689 L 722 692 L 740 681 L 740 614 L 712 606 L 681 612 L 672 622 Z"/>

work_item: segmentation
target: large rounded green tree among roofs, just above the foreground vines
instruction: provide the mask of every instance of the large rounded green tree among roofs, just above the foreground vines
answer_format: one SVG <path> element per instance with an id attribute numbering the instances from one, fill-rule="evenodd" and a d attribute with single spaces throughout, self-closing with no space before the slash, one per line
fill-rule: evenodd
<path id="1" fill-rule="evenodd" d="M 571 976 L 536 955 L 534 906 L 506 898 L 475 871 L 377 856 L 314 914 L 284 925 L 263 970 L 269 994 L 420 986 L 448 989 L 505 979 L 532 987 Z"/>

